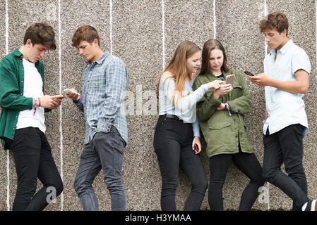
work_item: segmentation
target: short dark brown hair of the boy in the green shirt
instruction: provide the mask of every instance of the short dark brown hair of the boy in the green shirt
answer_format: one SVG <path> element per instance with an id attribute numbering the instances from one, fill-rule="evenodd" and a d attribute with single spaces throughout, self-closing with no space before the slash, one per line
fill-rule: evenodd
<path id="1" fill-rule="evenodd" d="M 33 45 L 42 44 L 49 49 L 56 49 L 55 32 L 48 23 L 35 23 L 26 30 L 23 45 L 30 39 Z"/>

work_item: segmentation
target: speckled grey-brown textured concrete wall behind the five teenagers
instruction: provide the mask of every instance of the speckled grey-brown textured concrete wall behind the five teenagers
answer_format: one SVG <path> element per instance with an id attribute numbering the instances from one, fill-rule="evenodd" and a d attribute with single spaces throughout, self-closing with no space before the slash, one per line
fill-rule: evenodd
<path id="1" fill-rule="evenodd" d="M 101 37 L 102 49 L 118 56 L 128 68 L 126 105 L 129 143 L 125 148 L 123 181 L 127 210 L 160 210 L 161 178 L 157 158 L 152 148 L 156 99 L 153 96 L 157 75 L 168 63 L 177 44 L 184 39 L 203 46 L 216 37 L 227 49 L 229 67 L 263 72 L 265 41 L 258 30 L 258 21 L 265 12 L 283 11 L 289 18 L 289 37 L 306 50 L 311 60 L 309 93 L 304 96 L 309 117 L 309 134 L 304 139 L 304 167 L 309 197 L 317 193 L 317 125 L 316 125 L 316 2 L 309 1 L 4 1 L 0 0 L 0 57 L 22 44 L 25 30 L 36 22 L 48 22 L 56 31 L 57 49 L 44 58 L 46 94 L 59 94 L 66 87 L 81 91 L 85 61 L 71 46 L 73 32 L 83 24 L 95 27 Z M 6 19 L 8 19 L 6 21 Z M 8 36 L 6 37 L 6 34 Z M 269 51 L 270 49 L 268 49 Z M 246 116 L 251 143 L 258 159 L 263 161 L 262 120 L 265 117 L 264 90 L 249 84 L 253 110 Z M 54 160 L 64 180 L 64 192 L 46 210 L 81 210 L 73 190 L 73 179 L 83 148 L 85 122 L 69 100 L 61 108 L 46 115 L 47 139 Z M 0 154 L 0 210 L 11 210 L 16 192 L 16 172 L 11 153 Z M 209 179 L 208 157 L 201 153 Z M 39 182 L 40 183 L 40 182 Z M 241 193 L 248 183 L 246 176 L 234 165 L 230 167 L 224 188 L 225 209 L 237 210 Z M 40 188 L 41 184 L 38 184 Z M 100 209 L 109 210 L 109 192 L 102 172 L 93 184 L 100 200 Z M 189 180 L 179 175 L 177 209 L 182 210 L 190 191 Z M 268 192 L 267 192 L 268 191 Z M 265 199 L 265 194 L 269 198 Z M 208 210 L 206 192 L 202 210 Z M 268 201 L 267 201 L 268 200 Z M 256 201 L 256 210 L 289 210 L 292 202 L 271 184 Z"/>

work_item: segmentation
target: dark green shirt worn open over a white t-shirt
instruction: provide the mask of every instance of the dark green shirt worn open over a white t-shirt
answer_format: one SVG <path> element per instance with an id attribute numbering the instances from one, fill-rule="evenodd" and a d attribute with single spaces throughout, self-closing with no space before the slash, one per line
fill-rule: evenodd
<path id="1" fill-rule="evenodd" d="M 44 66 L 35 63 L 44 81 Z M 32 98 L 23 96 L 24 90 L 23 55 L 18 49 L 5 56 L 0 62 L 0 139 L 4 149 L 4 137 L 13 140 L 20 111 L 32 109 Z M 49 111 L 45 109 L 45 112 Z"/>

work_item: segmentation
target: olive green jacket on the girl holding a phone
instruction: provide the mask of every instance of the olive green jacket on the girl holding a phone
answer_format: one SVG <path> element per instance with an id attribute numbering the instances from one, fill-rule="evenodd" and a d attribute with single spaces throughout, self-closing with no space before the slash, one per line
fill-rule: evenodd
<path id="1" fill-rule="evenodd" d="M 230 70 L 222 74 L 235 75 L 232 91 L 219 99 L 213 98 L 214 89 L 210 89 L 197 102 L 197 116 L 201 131 L 207 142 L 207 155 L 212 157 L 219 154 L 239 153 L 239 143 L 244 153 L 253 153 L 253 148 L 246 134 L 244 114 L 251 111 L 251 95 L 244 77 L 237 70 Z M 193 83 L 193 90 L 198 89 L 202 84 L 212 82 L 217 77 L 209 72 L 207 75 L 199 75 Z M 228 110 L 216 110 L 220 103 L 230 105 Z"/>

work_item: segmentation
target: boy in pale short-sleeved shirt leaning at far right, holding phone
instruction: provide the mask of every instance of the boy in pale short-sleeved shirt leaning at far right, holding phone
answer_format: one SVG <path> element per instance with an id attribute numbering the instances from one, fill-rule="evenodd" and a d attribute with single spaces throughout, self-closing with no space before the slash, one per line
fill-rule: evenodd
<path id="1" fill-rule="evenodd" d="M 287 37 L 288 20 L 275 12 L 259 23 L 272 49 L 264 59 L 264 73 L 251 82 L 265 86 L 267 118 L 263 126 L 263 178 L 293 200 L 293 210 L 316 211 L 316 200 L 307 197 L 303 167 L 303 138 L 308 131 L 302 97 L 309 89 L 309 58 Z M 280 167 L 284 162 L 285 170 Z"/>

